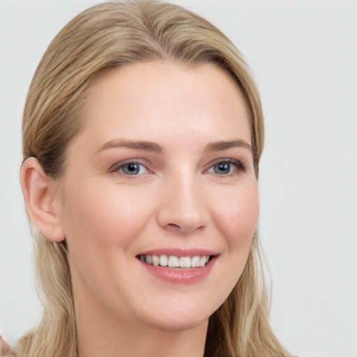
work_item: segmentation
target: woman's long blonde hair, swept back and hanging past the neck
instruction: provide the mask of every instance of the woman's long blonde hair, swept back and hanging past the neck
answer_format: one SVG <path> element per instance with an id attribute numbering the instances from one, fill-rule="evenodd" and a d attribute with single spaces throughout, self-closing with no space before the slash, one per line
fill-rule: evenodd
<path id="1" fill-rule="evenodd" d="M 169 3 L 109 2 L 67 24 L 45 52 L 24 107 L 23 155 L 38 159 L 47 175 L 61 178 L 66 147 L 82 128 L 86 89 L 109 70 L 136 61 L 215 63 L 243 93 L 250 113 L 258 176 L 264 142 L 261 102 L 250 70 L 229 39 L 210 22 Z M 75 307 L 66 253 L 35 227 L 35 265 L 43 316 L 18 344 L 23 356 L 77 356 Z M 205 356 L 290 356 L 268 322 L 258 236 L 227 301 L 208 323 Z"/>

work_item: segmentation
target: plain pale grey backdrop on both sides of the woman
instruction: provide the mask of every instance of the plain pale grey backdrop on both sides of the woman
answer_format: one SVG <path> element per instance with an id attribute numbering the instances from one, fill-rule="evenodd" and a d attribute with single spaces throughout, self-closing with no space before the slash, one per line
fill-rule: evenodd
<path id="1" fill-rule="evenodd" d="M 261 91 L 260 235 L 271 322 L 300 357 L 357 356 L 356 1 L 172 1 L 243 52 Z M 0 333 L 40 312 L 20 191 L 26 91 L 56 33 L 93 0 L 0 0 Z"/>

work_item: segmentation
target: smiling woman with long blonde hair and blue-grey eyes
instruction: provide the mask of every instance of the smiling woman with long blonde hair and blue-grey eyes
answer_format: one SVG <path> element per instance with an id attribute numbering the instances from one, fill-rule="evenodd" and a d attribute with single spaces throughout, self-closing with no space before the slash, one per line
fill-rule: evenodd
<path id="1" fill-rule="evenodd" d="M 261 104 L 212 24 L 103 3 L 33 77 L 21 183 L 43 318 L 20 356 L 289 356 L 268 324 Z"/>

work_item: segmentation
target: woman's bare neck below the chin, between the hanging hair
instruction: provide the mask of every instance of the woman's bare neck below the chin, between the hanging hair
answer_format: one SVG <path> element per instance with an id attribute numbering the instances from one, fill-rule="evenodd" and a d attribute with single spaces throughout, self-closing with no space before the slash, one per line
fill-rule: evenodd
<path id="1" fill-rule="evenodd" d="M 167 331 L 115 317 L 98 305 L 77 305 L 79 357 L 202 357 L 208 319 L 190 329 Z"/>

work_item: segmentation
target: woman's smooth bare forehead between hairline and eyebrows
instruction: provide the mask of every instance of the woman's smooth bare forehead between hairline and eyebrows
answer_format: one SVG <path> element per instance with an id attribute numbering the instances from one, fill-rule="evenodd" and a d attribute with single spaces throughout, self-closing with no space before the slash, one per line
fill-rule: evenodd
<path id="1" fill-rule="evenodd" d="M 180 128 L 186 135 L 199 132 L 204 136 L 206 132 L 215 136 L 212 139 L 241 135 L 250 142 L 241 91 L 225 70 L 213 64 L 157 61 L 123 66 L 91 86 L 83 115 L 86 130 L 101 141 L 114 133 L 138 139 L 151 135 L 155 140 L 165 130 Z"/>

